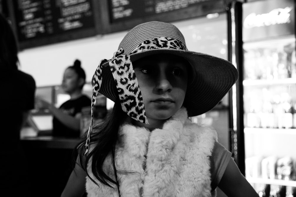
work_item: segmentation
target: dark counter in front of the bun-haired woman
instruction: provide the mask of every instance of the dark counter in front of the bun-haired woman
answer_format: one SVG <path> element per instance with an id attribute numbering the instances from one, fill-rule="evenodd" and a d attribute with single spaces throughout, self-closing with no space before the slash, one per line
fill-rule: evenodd
<path id="1" fill-rule="evenodd" d="M 50 132 L 21 132 L 30 182 L 34 187 L 32 197 L 40 194 L 43 197 L 60 196 L 73 170 L 74 157 L 77 157 L 74 148 L 81 139 L 49 135 Z"/>

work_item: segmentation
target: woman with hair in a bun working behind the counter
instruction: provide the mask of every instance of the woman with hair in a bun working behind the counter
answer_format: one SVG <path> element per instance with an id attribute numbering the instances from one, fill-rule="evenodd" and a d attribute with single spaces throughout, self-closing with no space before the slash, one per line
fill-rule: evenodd
<path id="1" fill-rule="evenodd" d="M 62 88 L 70 95 L 70 100 L 58 109 L 49 102 L 36 98 L 39 108 L 47 108 L 54 115 L 53 136 L 80 137 L 81 109 L 91 106 L 90 98 L 82 94 L 85 78 L 81 62 L 75 60 L 74 65 L 65 70 L 62 80 Z"/>

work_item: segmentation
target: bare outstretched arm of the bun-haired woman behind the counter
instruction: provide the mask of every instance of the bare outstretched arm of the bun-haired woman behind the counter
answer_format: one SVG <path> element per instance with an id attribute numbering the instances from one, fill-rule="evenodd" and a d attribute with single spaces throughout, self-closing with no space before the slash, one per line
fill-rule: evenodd
<path id="1" fill-rule="evenodd" d="M 36 102 L 41 105 L 41 107 L 49 109 L 52 115 L 54 115 L 54 117 L 57 118 L 65 126 L 76 131 L 80 129 L 80 113 L 76 114 L 75 117 L 73 117 L 71 115 L 65 114 L 64 112 L 62 112 L 62 110 L 56 108 L 54 105 L 41 98 L 36 97 Z"/>

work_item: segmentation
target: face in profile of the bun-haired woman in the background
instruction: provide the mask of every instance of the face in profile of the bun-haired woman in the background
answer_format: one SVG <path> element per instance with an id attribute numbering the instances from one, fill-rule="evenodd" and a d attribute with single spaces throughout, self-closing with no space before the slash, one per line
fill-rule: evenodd
<path id="1" fill-rule="evenodd" d="M 73 69 L 67 68 L 65 70 L 63 81 L 62 81 L 62 88 L 68 94 L 79 89 L 78 74 Z"/>

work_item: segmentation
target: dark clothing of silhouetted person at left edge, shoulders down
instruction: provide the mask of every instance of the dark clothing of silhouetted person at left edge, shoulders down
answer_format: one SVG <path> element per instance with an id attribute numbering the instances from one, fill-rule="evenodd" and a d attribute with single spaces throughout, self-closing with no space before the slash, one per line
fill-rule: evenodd
<path id="1" fill-rule="evenodd" d="M 31 191 L 30 170 L 20 141 L 20 129 L 23 112 L 34 108 L 35 80 L 19 70 L 0 69 L 0 89 L 0 191 L 1 194 L 31 196 L 28 194 Z"/>

